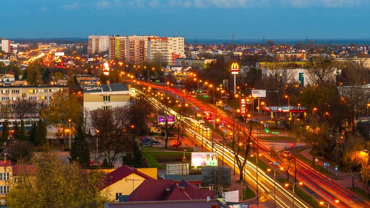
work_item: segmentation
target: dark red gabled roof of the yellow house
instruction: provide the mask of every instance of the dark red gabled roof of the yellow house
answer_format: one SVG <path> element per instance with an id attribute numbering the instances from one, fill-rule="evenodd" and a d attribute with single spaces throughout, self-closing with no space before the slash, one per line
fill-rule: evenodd
<path id="1" fill-rule="evenodd" d="M 111 184 L 114 184 L 117 181 L 122 180 L 123 178 L 131 174 L 137 174 L 147 180 L 154 180 L 154 178 L 148 175 L 145 175 L 144 173 L 137 171 L 132 167 L 124 165 L 106 175 L 105 180 L 104 180 L 104 187 L 102 189 L 108 187 Z"/>

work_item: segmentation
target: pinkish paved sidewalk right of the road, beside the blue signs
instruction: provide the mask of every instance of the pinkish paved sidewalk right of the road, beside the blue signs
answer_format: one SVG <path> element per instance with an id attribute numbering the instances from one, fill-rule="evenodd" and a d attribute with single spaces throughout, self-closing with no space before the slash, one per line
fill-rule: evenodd
<path id="1" fill-rule="evenodd" d="M 312 150 L 312 148 L 309 148 L 307 150 L 303 150 L 302 152 L 300 152 L 300 154 L 303 157 L 305 157 L 305 158 L 309 159 L 310 161 L 312 161 L 312 158 L 313 157 L 310 154 L 310 151 L 311 150 Z M 315 158 L 317 158 L 317 157 L 315 157 Z M 318 166 L 324 167 L 324 162 L 321 161 L 321 160 L 319 160 L 319 161 L 317 161 L 315 163 Z M 327 167 L 326 170 L 329 170 L 330 172 L 332 172 L 333 174 L 335 174 L 335 164 L 334 163 L 332 163 L 332 164 L 330 164 L 330 166 Z M 308 164 L 308 165 L 311 165 L 311 164 Z M 343 172 L 338 171 L 337 175 L 338 175 L 338 178 L 342 178 L 343 180 L 335 180 L 335 175 L 330 175 L 330 176 L 327 176 L 327 177 L 329 177 L 330 179 L 332 179 L 337 184 L 342 185 L 343 187 L 352 187 L 352 176 L 351 176 L 350 173 L 346 174 L 346 173 L 343 173 Z M 356 175 L 358 176 L 358 174 L 356 174 Z M 354 179 L 354 187 L 363 189 L 362 182 L 359 181 L 358 177 Z"/>

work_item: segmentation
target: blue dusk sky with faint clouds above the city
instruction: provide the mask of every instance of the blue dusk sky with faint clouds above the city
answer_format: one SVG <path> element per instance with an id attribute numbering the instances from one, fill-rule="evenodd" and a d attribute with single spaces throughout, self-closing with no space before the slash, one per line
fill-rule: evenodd
<path id="1" fill-rule="evenodd" d="M 0 37 L 370 38 L 370 0 L 4 0 Z"/>

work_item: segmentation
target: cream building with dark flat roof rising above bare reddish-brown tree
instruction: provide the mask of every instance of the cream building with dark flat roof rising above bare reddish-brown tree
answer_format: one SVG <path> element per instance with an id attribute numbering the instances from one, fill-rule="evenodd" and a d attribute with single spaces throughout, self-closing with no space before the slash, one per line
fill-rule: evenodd
<path id="1" fill-rule="evenodd" d="M 86 85 L 84 88 L 84 108 L 110 110 L 124 106 L 130 98 L 128 88 L 123 83 Z"/>

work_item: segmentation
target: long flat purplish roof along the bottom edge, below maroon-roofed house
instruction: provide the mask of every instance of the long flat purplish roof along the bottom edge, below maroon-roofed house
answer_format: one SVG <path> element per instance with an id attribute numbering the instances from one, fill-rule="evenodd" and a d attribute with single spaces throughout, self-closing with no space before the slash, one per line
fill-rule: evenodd
<path id="1" fill-rule="evenodd" d="M 169 200 L 169 201 L 141 201 L 141 202 L 108 202 L 105 208 L 230 208 L 217 199 L 207 200 Z"/>

